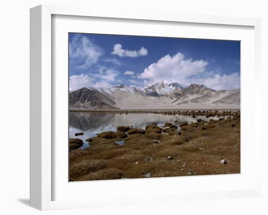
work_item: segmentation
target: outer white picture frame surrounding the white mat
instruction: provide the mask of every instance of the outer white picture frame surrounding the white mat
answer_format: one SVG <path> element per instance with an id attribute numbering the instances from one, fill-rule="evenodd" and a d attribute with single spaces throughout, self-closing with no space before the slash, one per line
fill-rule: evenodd
<path id="1" fill-rule="evenodd" d="M 260 52 L 261 52 L 261 21 L 257 18 L 233 18 L 220 16 L 183 15 L 159 12 L 103 11 L 96 8 L 75 8 L 67 6 L 40 5 L 30 10 L 30 206 L 39 210 L 54 210 L 105 205 L 127 205 L 151 202 L 176 202 L 182 199 L 212 199 L 229 197 L 254 197 L 261 195 L 261 176 L 258 171 L 254 187 L 249 189 L 184 193 L 159 194 L 153 199 L 117 197 L 120 203 L 109 201 L 95 202 L 90 200 L 53 200 L 53 117 L 54 91 L 52 70 L 52 16 L 67 15 L 79 17 L 120 18 L 133 20 L 153 20 L 165 22 L 184 22 L 196 24 L 215 24 L 235 26 L 250 26 L 254 28 L 254 78 L 256 88 L 260 88 Z M 243 54 L 243 53 L 242 53 Z M 255 89 L 258 91 L 258 89 Z M 261 91 L 259 89 L 259 91 Z M 254 93 L 254 113 L 261 109 L 261 95 Z M 254 119 L 255 125 L 260 124 L 260 118 Z M 243 118 L 242 118 L 243 121 Z M 261 162 L 261 135 L 254 129 L 254 162 Z M 259 167 L 256 167 L 259 168 Z M 165 180 L 165 179 L 162 179 Z M 175 180 L 175 178 L 173 178 Z M 101 181 L 100 181 L 101 183 Z M 132 183 L 129 180 L 128 183 Z M 118 183 L 117 183 L 118 184 Z M 135 186 L 135 185 L 134 185 Z M 165 199 L 165 200 L 164 200 Z"/>

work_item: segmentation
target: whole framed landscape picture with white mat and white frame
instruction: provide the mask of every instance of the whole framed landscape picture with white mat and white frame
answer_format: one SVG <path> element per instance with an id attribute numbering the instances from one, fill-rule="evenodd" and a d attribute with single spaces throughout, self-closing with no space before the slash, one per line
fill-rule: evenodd
<path id="1" fill-rule="evenodd" d="M 30 21 L 32 207 L 260 195 L 259 19 L 41 5 Z"/>

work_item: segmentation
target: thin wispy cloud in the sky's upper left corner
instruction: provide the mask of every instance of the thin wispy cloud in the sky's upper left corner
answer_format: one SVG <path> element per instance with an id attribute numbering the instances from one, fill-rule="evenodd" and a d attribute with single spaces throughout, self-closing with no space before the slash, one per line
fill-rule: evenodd
<path id="1" fill-rule="evenodd" d="M 102 54 L 102 49 L 86 36 L 77 34 L 69 42 L 70 66 L 73 68 L 87 69 L 96 64 Z"/>

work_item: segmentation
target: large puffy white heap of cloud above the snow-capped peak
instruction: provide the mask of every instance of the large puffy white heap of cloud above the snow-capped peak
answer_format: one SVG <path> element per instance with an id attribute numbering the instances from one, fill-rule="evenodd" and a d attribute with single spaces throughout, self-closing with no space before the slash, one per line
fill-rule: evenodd
<path id="1" fill-rule="evenodd" d="M 207 65 L 208 62 L 204 60 L 185 59 L 181 53 L 173 56 L 167 54 L 152 63 L 138 77 L 156 82 L 164 79 L 180 82 L 180 79 L 204 72 Z"/>

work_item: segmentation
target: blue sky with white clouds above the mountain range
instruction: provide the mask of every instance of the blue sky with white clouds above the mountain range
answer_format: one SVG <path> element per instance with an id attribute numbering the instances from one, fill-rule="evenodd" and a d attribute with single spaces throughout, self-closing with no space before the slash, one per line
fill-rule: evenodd
<path id="1" fill-rule="evenodd" d="M 240 41 L 69 33 L 69 86 L 240 88 Z"/>

